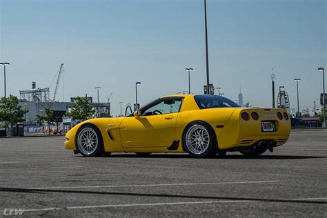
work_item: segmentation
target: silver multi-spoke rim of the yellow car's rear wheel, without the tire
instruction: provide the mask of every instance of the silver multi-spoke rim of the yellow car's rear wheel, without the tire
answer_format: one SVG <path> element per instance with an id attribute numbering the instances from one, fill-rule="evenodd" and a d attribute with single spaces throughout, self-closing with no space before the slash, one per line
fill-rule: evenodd
<path id="1" fill-rule="evenodd" d="M 210 146 L 208 130 L 201 125 L 195 124 L 186 132 L 186 146 L 195 155 L 201 155 Z"/>

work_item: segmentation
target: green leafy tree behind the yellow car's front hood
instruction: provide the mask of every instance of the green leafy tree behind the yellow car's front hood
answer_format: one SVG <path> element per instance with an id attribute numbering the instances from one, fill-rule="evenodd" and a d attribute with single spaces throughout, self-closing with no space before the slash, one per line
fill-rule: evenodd
<path id="1" fill-rule="evenodd" d="M 88 99 L 77 97 L 75 103 L 72 105 L 72 110 L 66 113 L 66 116 L 72 117 L 72 119 L 86 120 L 93 116 L 95 111 L 92 104 Z"/>

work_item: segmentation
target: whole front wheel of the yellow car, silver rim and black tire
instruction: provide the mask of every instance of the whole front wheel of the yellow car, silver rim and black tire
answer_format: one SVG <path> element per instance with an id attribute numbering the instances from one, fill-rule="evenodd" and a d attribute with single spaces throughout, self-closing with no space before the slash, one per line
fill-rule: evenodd
<path id="1" fill-rule="evenodd" d="M 77 150 L 84 157 L 99 157 L 103 152 L 101 132 L 95 126 L 83 126 L 77 133 Z"/>

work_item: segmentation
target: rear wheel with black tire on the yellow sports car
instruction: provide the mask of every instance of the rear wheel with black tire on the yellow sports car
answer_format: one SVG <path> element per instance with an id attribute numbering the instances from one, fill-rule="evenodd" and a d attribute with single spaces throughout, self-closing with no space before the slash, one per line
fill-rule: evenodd
<path id="1" fill-rule="evenodd" d="M 195 137 L 192 135 L 192 131 L 197 130 L 204 130 L 204 135 L 205 137 L 198 137 L 197 139 L 190 139 L 188 141 L 188 138 Z M 207 134 L 208 133 L 208 134 Z M 192 136 L 190 136 L 192 135 Z M 208 142 L 206 142 L 205 139 L 208 139 Z M 199 140 L 197 142 L 197 140 Z M 192 144 L 195 143 L 193 146 Z M 203 150 L 199 150 L 199 143 L 206 143 L 206 147 Z M 188 152 L 189 155 L 192 157 L 214 157 L 217 154 L 217 143 L 216 143 L 216 137 L 215 137 L 215 132 L 213 132 L 212 128 L 207 124 L 202 121 L 195 121 L 190 123 L 184 130 L 183 134 L 183 146 L 186 152 Z M 198 146 L 198 148 L 195 148 L 195 146 Z M 197 152 L 198 151 L 198 152 Z"/>

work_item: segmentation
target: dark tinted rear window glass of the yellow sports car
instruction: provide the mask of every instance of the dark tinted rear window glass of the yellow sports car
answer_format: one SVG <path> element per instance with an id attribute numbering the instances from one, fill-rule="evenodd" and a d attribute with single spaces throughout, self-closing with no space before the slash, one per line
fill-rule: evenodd
<path id="1" fill-rule="evenodd" d="M 218 95 L 195 95 L 200 109 L 206 108 L 239 108 L 239 105 L 230 99 Z"/>

